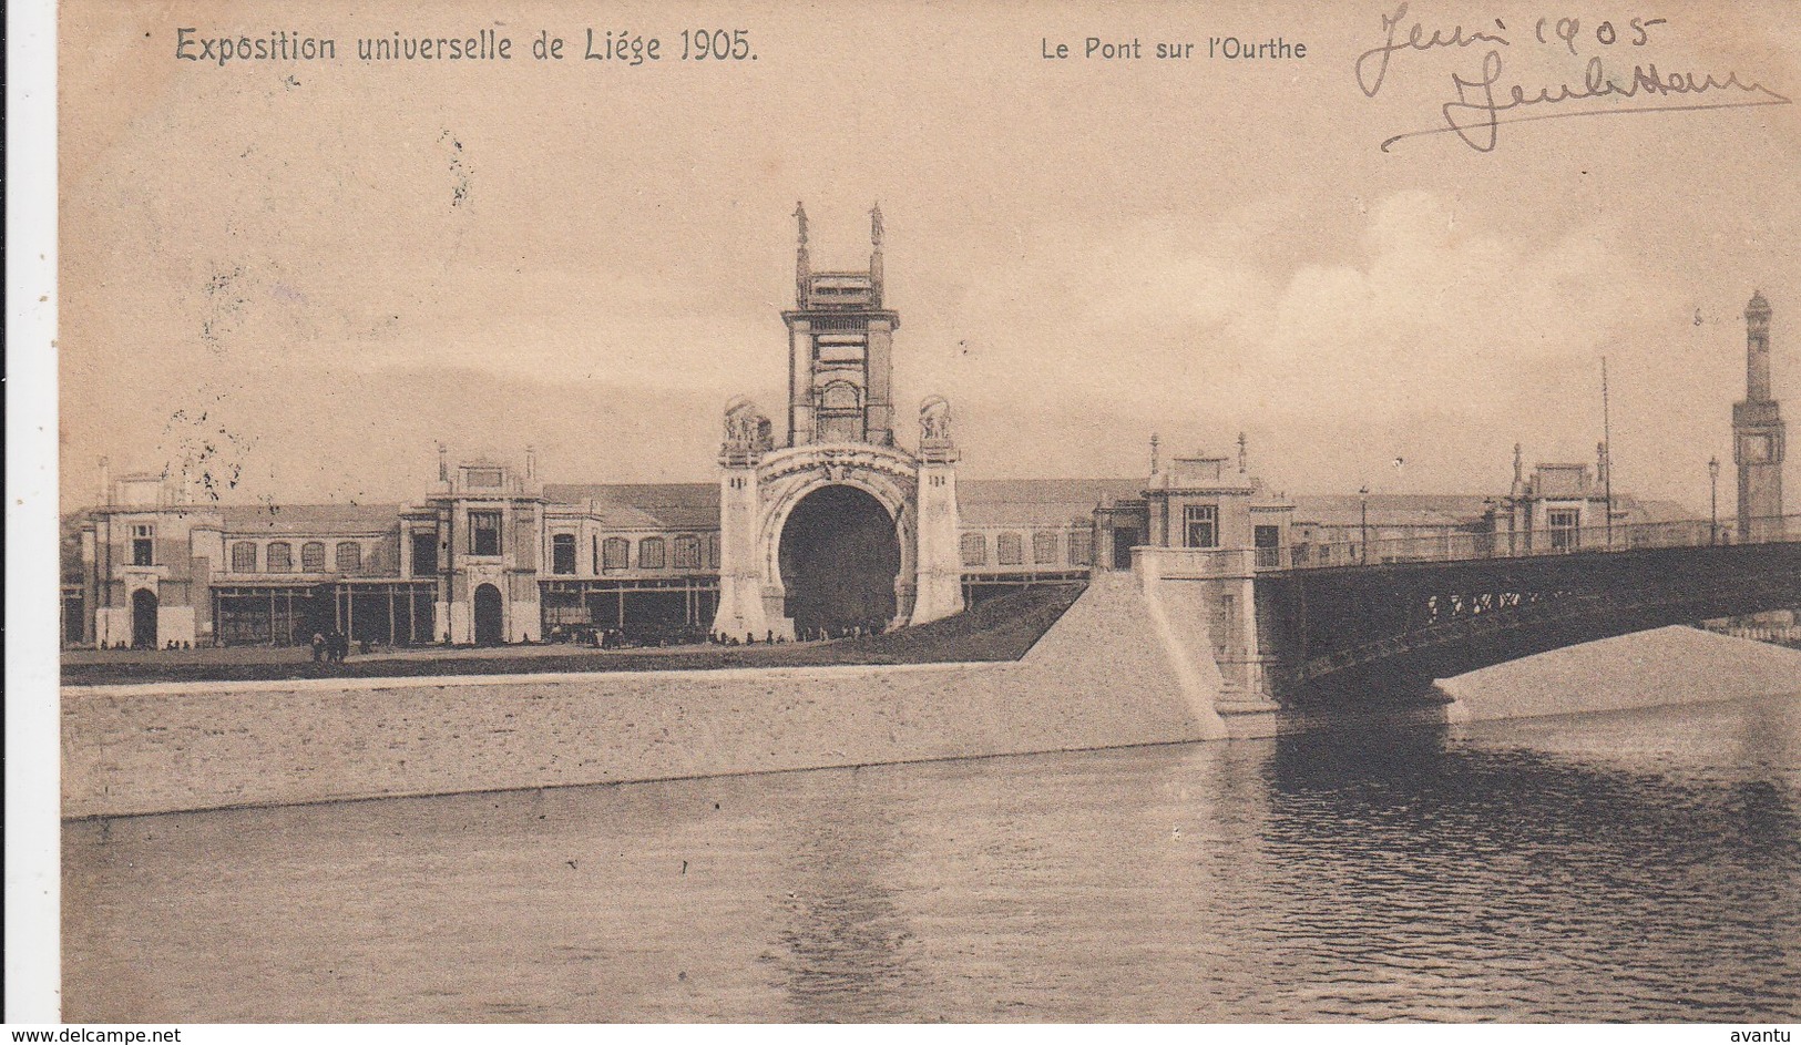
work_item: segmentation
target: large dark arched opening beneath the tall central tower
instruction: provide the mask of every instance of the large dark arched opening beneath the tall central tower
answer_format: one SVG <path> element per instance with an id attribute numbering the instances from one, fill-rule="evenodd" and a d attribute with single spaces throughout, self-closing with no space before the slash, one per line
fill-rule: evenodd
<path id="1" fill-rule="evenodd" d="M 855 486 L 821 486 L 794 504 L 780 568 L 796 636 L 881 629 L 895 616 L 900 537 L 888 508 Z"/>

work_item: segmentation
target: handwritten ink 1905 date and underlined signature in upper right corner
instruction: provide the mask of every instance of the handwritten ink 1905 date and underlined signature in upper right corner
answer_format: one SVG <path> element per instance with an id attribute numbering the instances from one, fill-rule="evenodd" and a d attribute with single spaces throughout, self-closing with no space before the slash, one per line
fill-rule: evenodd
<path id="1" fill-rule="evenodd" d="M 1450 31 L 1426 31 L 1417 22 L 1399 38 L 1399 27 L 1407 20 L 1407 4 L 1401 4 L 1394 14 L 1383 14 L 1381 25 L 1385 41 L 1380 47 L 1371 47 L 1356 59 L 1356 79 L 1358 86 L 1367 97 L 1376 97 L 1381 85 L 1389 77 L 1389 65 L 1396 54 L 1405 50 L 1437 50 L 1452 47 L 1471 47 L 1477 43 L 1489 45 L 1489 50 L 1482 56 L 1482 72 L 1479 77 L 1470 79 L 1462 74 L 1452 74 L 1452 86 L 1457 92 L 1453 101 L 1446 101 L 1441 106 L 1444 115 L 1444 126 L 1407 132 L 1389 137 L 1381 142 L 1381 151 L 1389 151 L 1394 142 L 1403 139 L 1430 137 L 1441 133 L 1455 133 L 1466 146 L 1479 153 L 1495 151 L 1500 141 L 1500 124 L 1507 123 L 1529 123 L 1542 119 L 1572 119 L 1588 115 L 1626 115 L 1626 114 L 1648 114 L 1648 112 L 1698 112 L 1698 110 L 1722 110 L 1722 108 L 1749 108 L 1760 104 L 1792 104 L 1792 101 L 1770 90 L 1761 83 L 1745 83 L 1736 72 L 1725 72 L 1722 76 L 1715 74 L 1695 74 L 1695 72 L 1659 72 L 1655 63 L 1637 63 L 1632 72 L 1623 77 L 1614 77 L 1608 74 L 1599 56 L 1588 59 L 1583 68 L 1581 85 L 1561 83 L 1556 86 L 1540 86 L 1531 90 L 1524 85 L 1511 85 L 1497 90 L 1502 77 L 1502 59 L 1500 47 L 1511 47 L 1513 43 L 1502 36 L 1507 27 L 1495 20 L 1495 29 L 1498 31 L 1473 31 L 1464 32 L 1462 25 Z M 1650 27 L 1664 23 L 1662 18 L 1639 20 L 1634 18 L 1630 31 L 1634 34 L 1634 47 L 1643 47 L 1650 40 Z M 1576 54 L 1576 36 L 1581 29 L 1579 22 L 1574 18 L 1560 18 L 1554 23 L 1551 20 L 1540 18 L 1536 23 L 1536 38 L 1540 43 L 1549 43 L 1545 38 L 1547 25 L 1552 34 L 1563 41 L 1563 45 Z M 1601 23 L 1597 27 L 1597 41 L 1603 45 L 1612 45 L 1619 40 L 1619 32 L 1612 29 L 1610 23 Z M 1711 97 L 1700 97 L 1711 95 Z M 1606 104 L 1579 104 L 1585 99 L 1615 99 Z M 1668 103 L 1644 103 L 1644 104 L 1619 104 L 1617 99 L 1675 99 L 1675 97 L 1693 97 L 1695 101 L 1668 101 Z M 1578 104 L 1567 104 L 1578 103 Z M 1534 108 L 1543 106 L 1543 108 Z M 1549 106 L 1567 106 L 1567 108 L 1549 108 Z M 1513 114 L 1513 115 L 1507 115 Z"/>

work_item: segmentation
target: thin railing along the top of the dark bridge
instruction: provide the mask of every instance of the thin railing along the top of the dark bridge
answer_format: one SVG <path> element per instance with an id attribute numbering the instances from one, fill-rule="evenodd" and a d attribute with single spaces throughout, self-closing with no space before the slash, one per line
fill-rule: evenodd
<path id="1" fill-rule="evenodd" d="M 1727 544 L 1772 544 L 1801 541 L 1801 515 L 1751 519 L 1747 533 L 1738 522 L 1679 519 L 1671 522 L 1615 522 L 1520 533 L 1448 532 L 1428 537 L 1383 537 L 1333 544 L 1295 544 L 1257 550 L 1261 569 L 1327 569 L 1396 562 L 1461 562 L 1475 559 L 1522 559 L 1585 551 L 1639 551 L 1646 548 L 1704 548 Z M 1268 551 L 1281 555 L 1266 557 Z"/>

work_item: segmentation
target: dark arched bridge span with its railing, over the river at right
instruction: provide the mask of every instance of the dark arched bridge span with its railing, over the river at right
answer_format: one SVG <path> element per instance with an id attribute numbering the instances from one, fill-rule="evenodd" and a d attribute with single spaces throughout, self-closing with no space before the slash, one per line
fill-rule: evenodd
<path id="1" fill-rule="evenodd" d="M 1533 652 L 1801 604 L 1801 517 L 1743 535 L 1707 521 L 1536 533 L 1536 548 L 1464 537 L 1257 569 L 1277 692 L 1417 690 Z"/>

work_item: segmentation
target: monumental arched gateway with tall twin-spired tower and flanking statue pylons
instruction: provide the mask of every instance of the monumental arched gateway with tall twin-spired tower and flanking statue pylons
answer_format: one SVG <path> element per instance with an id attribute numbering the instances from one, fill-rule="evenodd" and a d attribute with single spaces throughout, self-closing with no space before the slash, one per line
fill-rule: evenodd
<path id="1" fill-rule="evenodd" d="M 919 450 L 895 443 L 900 315 L 882 301 L 881 207 L 863 272 L 814 272 L 807 211 L 794 218 L 787 441 L 749 400 L 726 407 L 713 631 L 764 641 L 951 616 L 964 607 L 951 409 L 928 398 Z"/>

